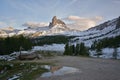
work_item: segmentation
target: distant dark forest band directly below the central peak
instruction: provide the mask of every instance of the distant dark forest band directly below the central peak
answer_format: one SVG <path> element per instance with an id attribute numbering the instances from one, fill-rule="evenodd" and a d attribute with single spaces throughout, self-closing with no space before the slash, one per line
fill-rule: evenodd
<path id="1" fill-rule="evenodd" d="M 34 45 L 50 45 L 50 44 L 65 44 L 69 42 L 70 39 L 75 36 L 65 36 L 65 35 L 53 35 L 53 36 L 42 36 L 39 38 L 34 38 L 32 41 Z"/>

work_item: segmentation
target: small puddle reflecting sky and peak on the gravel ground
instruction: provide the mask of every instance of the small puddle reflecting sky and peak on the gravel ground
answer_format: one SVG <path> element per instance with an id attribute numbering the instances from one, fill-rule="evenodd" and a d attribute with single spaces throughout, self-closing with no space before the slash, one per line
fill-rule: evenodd
<path id="1" fill-rule="evenodd" d="M 51 76 L 59 76 L 64 74 L 70 74 L 79 72 L 79 69 L 67 66 L 43 66 L 45 69 L 48 69 L 49 72 L 45 72 L 41 75 L 41 77 L 51 77 Z"/>

